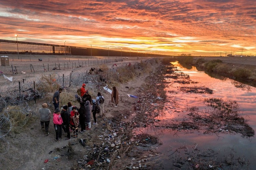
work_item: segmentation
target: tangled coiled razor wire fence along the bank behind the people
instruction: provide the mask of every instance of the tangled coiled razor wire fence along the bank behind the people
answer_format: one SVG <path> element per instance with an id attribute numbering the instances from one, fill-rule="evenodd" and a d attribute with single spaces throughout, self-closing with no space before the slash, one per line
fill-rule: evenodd
<path id="1" fill-rule="evenodd" d="M 74 63 L 81 64 L 78 62 Z M 97 62 L 97 65 L 100 65 L 100 63 Z M 55 64 L 51 64 L 52 66 L 55 66 Z M 130 66 L 134 69 L 140 69 L 139 63 Z M 34 67 L 33 71 L 35 72 L 40 70 L 39 68 L 42 68 L 39 64 L 31 66 L 29 69 L 32 69 L 32 67 Z M 64 65 L 62 67 L 65 68 Z M 15 127 L 21 128 L 27 124 L 30 118 L 39 117 L 36 101 L 43 99 L 51 107 L 53 93 L 58 90 L 58 87 L 62 87 L 64 91 L 65 89 L 68 91 L 67 93 L 62 93 L 62 98 L 67 98 L 67 101 L 63 101 L 66 104 L 70 101 L 70 98 L 76 100 L 74 94 L 83 83 L 86 83 L 86 87 L 90 89 L 92 94 L 96 94 L 101 87 L 107 85 L 106 82 L 109 82 L 110 78 L 118 79 L 119 77 L 117 67 L 114 65 L 110 68 L 105 67 L 100 69 L 100 67 L 96 67 L 93 71 L 88 70 L 88 67 L 84 69 L 81 67 L 79 66 L 80 69 L 64 71 L 63 73 L 51 72 L 48 75 L 45 74 L 38 77 L 35 77 L 33 74 L 24 74 L 24 77 L 19 80 L 11 83 L 8 81 L 2 83 L 0 86 L 0 139 L 9 145 L 9 142 L 4 139 L 4 136 L 12 130 L 14 123 L 18 122 L 18 124 L 15 124 Z M 125 70 L 125 67 L 127 66 L 120 65 L 119 68 Z M 19 68 L 25 69 L 24 66 L 15 68 L 17 69 L 16 73 L 18 73 Z M 127 74 L 129 73 L 127 72 Z"/>

